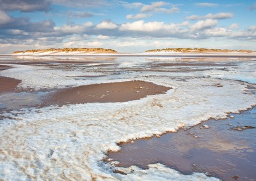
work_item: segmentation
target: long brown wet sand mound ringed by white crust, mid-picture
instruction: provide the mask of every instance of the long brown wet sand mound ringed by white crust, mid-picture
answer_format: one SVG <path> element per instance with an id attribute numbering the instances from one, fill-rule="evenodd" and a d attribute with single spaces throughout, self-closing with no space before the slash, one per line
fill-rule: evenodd
<path id="1" fill-rule="evenodd" d="M 77 103 L 115 103 L 164 94 L 170 87 L 140 80 L 84 85 L 56 91 L 43 101 L 45 105 L 68 105 Z"/>

